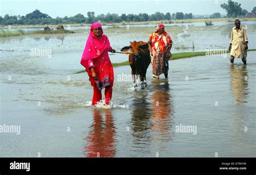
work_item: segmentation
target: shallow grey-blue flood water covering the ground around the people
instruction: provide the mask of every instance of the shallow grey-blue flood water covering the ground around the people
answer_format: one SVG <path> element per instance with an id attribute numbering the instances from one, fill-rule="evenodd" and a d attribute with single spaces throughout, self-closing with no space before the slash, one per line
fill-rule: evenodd
<path id="1" fill-rule="evenodd" d="M 256 23 L 242 25 L 248 46 L 256 48 Z M 166 31 L 173 53 L 207 51 L 226 49 L 232 26 Z M 129 41 L 147 41 L 152 31 L 154 26 L 104 29 L 116 50 Z M 246 66 L 240 59 L 229 65 L 229 54 L 170 60 L 167 80 L 161 75 L 155 81 L 149 66 L 144 90 L 127 81 L 129 66 L 114 67 L 110 108 L 92 108 L 88 76 L 76 74 L 84 69 L 80 58 L 89 31 L 76 32 L 0 39 L 0 125 L 21 126 L 19 135 L 0 133 L 1 157 L 256 156 L 256 51 L 248 52 Z M 50 54 L 31 55 L 37 49 Z M 110 59 L 128 57 L 116 53 Z M 177 130 L 182 126 L 194 130 Z"/>

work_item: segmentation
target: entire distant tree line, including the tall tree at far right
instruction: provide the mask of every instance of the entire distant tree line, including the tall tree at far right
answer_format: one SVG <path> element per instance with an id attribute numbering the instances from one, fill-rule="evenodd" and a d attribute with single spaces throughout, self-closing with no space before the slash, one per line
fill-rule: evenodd
<path id="1" fill-rule="evenodd" d="M 226 10 L 228 18 L 235 17 L 256 17 L 256 7 L 254 6 L 251 12 L 248 12 L 245 9 L 241 8 L 241 4 L 237 2 L 233 2 L 232 0 L 228 0 L 227 4 L 221 4 L 221 8 Z M 35 24 L 60 24 L 63 21 L 67 21 L 69 24 L 82 24 L 87 23 L 91 24 L 93 22 L 101 22 L 101 23 L 120 23 L 120 22 L 147 22 L 147 21 L 161 21 L 161 20 L 175 20 L 175 19 L 192 19 L 194 18 L 192 13 L 161 13 L 156 12 L 152 15 L 148 15 L 147 13 L 139 13 L 138 15 L 123 13 L 122 15 L 118 15 L 116 13 L 107 13 L 106 15 L 100 14 L 95 16 L 95 12 L 89 11 L 87 12 L 87 17 L 78 13 L 73 17 L 56 17 L 52 18 L 49 15 L 40 12 L 39 10 L 35 10 L 31 13 L 26 14 L 25 16 L 9 16 L 6 14 L 4 17 L 0 16 L 0 25 L 35 25 Z M 199 17 L 205 18 L 205 17 Z M 209 18 L 221 18 L 220 13 L 213 13 Z"/>

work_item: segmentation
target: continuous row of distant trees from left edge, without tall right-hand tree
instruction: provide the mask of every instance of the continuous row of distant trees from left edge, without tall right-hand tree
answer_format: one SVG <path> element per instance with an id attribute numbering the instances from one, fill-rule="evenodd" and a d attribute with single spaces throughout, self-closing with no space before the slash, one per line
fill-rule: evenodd
<path id="1" fill-rule="evenodd" d="M 122 14 L 118 15 L 116 13 L 107 13 L 106 15 L 100 14 L 95 16 L 95 12 L 87 12 L 87 17 L 78 13 L 73 17 L 56 17 L 51 18 L 49 15 L 40 12 L 39 10 L 35 10 L 31 13 L 26 14 L 25 16 L 9 16 L 5 15 L 4 17 L 0 16 L 0 24 L 1 25 L 31 25 L 31 24 L 59 24 L 64 20 L 67 20 L 68 23 L 93 23 L 97 21 L 105 22 L 105 23 L 119 23 L 119 22 L 147 22 L 152 20 L 171 20 L 171 19 L 192 19 L 192 13 L 161 13 L 156 12 L 152 15 L 148 15 L 147 13 L 139 13 L 138 15 L 133 14 Z"/>

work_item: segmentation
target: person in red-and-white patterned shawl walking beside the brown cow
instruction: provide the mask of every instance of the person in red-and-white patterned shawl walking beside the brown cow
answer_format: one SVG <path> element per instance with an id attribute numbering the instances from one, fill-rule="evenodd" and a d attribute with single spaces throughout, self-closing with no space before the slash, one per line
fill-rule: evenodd
<path id="1" fill-rule="evenodd" d="M 152 73 L 153 78 L 159 79 L 159 75 L 168 78 L 169 59 L 171 58 L 172 39 L 164 29 L 164 24 L 158 24 L 156 32 L 149 36 L 149 50 L 153 56 Z"/>

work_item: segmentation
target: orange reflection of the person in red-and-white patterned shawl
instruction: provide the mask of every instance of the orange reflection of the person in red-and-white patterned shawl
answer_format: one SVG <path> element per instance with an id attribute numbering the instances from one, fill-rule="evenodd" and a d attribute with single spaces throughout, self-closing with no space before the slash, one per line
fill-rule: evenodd
<path id="1" fill-rule="evenodd" d="M 151 96 L 152 102 L 152 122 L 153 131 L 157 132 L 154 135 L 154 142 L 165 142 L 172 140 L 169 131 L 172 129 L 172 101 L 169 82 L 165 80 L 164 85 L 159 83 L 154 84 L 154 93 Z"/>

